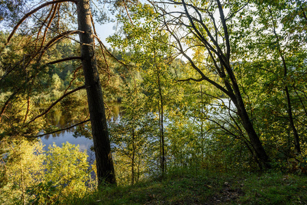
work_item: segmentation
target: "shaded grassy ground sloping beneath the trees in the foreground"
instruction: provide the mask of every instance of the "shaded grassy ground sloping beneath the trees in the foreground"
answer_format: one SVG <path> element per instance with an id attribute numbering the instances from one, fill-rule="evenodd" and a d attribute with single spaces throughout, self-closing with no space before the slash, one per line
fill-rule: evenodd
<path id="1" fill-rule="evenodd" d="M 176 171 L 129 187 L 108 187 L 80 204 L 307 204 L 307 176 Z"/>

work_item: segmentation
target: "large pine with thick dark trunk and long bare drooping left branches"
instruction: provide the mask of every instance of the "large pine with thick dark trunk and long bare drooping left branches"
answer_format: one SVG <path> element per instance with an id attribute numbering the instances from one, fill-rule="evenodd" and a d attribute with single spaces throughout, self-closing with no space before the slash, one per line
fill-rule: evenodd
<path id="1" fill-rule="evenodd" d="M 59 20 L 55 21 L 55 18 L 59 19 L 61 16 L 59 15 L 60 8 L 62 6 L 67 6 L 68 2 L 72 2 L 77 4 L 77 21 L 78 21 L 78 30 L 73 31 L 61 31 Z M 57 104 L 60 100 L 81 90 L 86 88 L 88 94 L 88 107 L 90 111 L 90 121 L 92 124 L 92 135 L 94 141 L 94 151 L 96 154 L 96 163 L 97 163 L 97 177 L 98 184 L 101 186 L 104 182 L 115 184 L 115 176 L 114 176 L 114 165 L 111 156 L 111 148 L 109 142 L 109 134 L 107 130 L 107 120 L 105 117 L 105 107 L 103 101 L 103 92 L 101 89 L 101 82 L 99 80 L 98 69 L 96 64 L 96 55 L 95 55 L 95 45 L 94 45 L 94 31 L 92 29 L 93 21 L 92 14 L 90 11 L 90 1 L 88 0 L 57 0 L 57 1 L 48 1 L 46 3 L 42 3 L 34 10 L 27 12 L 21 20 L 16 23 L 14 29 L 8 36 L 8 43 L 10 40 L 14 40 L 14 33 L 18 29 L 18 27 L 25 21 L 29 16 L 34 15 L 36 12 L 43 10 L 44 8 L 49 8 L 49 13 L 43 13 L 42 20 L 38 20 L 40 22 L 40 26 L 36 30 L 36 38 L 33 39 L 33 46 L 31 47 L 31 55 L 26 55 L 22 60 L 23 70 L 29 70 L 29 75 L 27 78 L 23 79 L 21 84 L 19 84 L 14 92 L 8 97 L 3 106 L 1 107 L 0 116 L 3 116 L 5 109 L 8 107 L 10 101 L 16 96 L 20 95 L 23 91 L 25 85 L 33 85 L 33 82 L 36 80 L 36 77 L 44 70 L 48 65 L 61 63 L 62 61 L 70 61 L 70 60 L 81 60 L 83 66 L 83 74 L 85 78 L 85 85 L 75 88 L 74 90 L 70 90 L 70 92 L 64 92 L 64 94 L 55 100 L 52 105 L 32 118 L 31 120 L 25 120 L 25 124 L 23 126 L 27 126 L 31 122 L 34 122 L 37 118 L 40 118 L 45 113 Z M 65 7 L 67 8 L 67 7 Z M 73 7 L 72 7 L 73 8 Z M 68 9 L 67 9 L 68 10 Z M 37 19 L 36 19 L 37 20 Z M 54 22 L 54 23 L 53 23 Z M 51 26 L 53 26 L 51 28 Z M 44 30 L 44 33 L 42 31 Z M 33 31 L 35 31 L 33 29 Z M 55 36 L 54 33 L 57 33 Z M 64 59 L 58 59 L 55 61 L 49 61 L 48 59 L 44 59 L 44 54 L 57 42 L 70 38 L 72 34 L 79 33 L 79 44 L 81 46 L 81 56 L 70 56 Z M 50 37 L 48 36 L 50 35 Z M 95 36 L 98 38 L 97 36 Z M 47 42 L 47 40 L 49 40 Z M 39 45 L 40 44 L 40 45 Z M 47 62 L 46 62 L 47 61 Z M 46 64 L 45 64 L 46 62 Z M 36 70 L 31 70 L 31 66 L 35 67 Z M 1 80 L 5 79 L 12 70 L 16 69 L 13 67 L 10 70 L 6 70 L 6 73 L 3 74 Z M 68 87 L 69 88 L 69 87 Z M 67 89 L 68 89 L 67 88 Z M 30 91 L 30 90 L 29 90 Z"/>

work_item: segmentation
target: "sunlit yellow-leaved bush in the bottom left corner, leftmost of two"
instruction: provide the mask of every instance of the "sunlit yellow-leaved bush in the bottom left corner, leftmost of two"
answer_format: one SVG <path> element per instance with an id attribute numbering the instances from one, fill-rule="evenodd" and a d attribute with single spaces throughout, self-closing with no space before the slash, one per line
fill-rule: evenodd
<path id="1" fill-rule="evenodd" d="M 28 204 L 33 196 L 27 189 L 44 181 L 44 154 L 41 142 L 16 141 L 8 146 L 4 166 L 6 183 L 1 184 L 1 204 Z"/>

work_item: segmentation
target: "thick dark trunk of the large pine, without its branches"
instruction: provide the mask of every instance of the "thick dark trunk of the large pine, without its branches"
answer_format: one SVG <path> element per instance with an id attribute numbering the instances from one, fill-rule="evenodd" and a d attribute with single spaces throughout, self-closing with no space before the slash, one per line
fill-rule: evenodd
<path id="1" fill-rule="evenodd" d="M 88 108 L 92 124 L 92 136 L 96 156 L 98 186 L 104 182 L 116 184 L 114 164 L 111 155 L 103 92 L 94 53 L 94 37 L 91 24 L 90 0 L 77 0 L 81 59 L 88 94 Z M 82 32 L 83 31 L 83 32 Z"/>

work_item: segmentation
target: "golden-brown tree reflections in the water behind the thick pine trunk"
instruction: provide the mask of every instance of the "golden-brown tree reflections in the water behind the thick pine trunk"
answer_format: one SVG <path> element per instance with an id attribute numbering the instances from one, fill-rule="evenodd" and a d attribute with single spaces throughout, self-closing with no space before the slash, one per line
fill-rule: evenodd
<path id="1" fill-rule="evenodd" d="M 114 122 L 120 120 L 120 116 L 124 113 L 124 109 L 120 102 L 108 102 L 107 103 L 107 116 L 109 115 L 109 121 Z M 44 110 L 44 107 L 39 108 L 40 111 Z M 110 112 L 111 111 L 111 112 Z M 46 125 L 50 128 L 62 129 L 73 124 L 77 124 L 84 120 L 87 120 L 88 109 L 85 107 L 75 107 L 75 109 L 66 109 L 65 107 L 57 107 L 46 115 Z M 72 127 L 68 130 L 59 131 L 51 135 L 45 135 L 44 139 L 49 139 L 49 137 L 59 137 L 65 135 L 65 133 L 73 133 L 73 137 L 86 137 L 92 139 L 91 125 L 90 122 L 86 122 L 79 126 Z"/>

